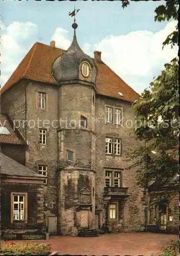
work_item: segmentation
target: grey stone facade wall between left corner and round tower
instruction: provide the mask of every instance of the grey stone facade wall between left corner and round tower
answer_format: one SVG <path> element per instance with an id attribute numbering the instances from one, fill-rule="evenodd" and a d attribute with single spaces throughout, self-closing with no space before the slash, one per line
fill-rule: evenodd
<path id="1" fill-rule="evenodd" d="M 46 109 L 38 109 L 38 92 L 46 93 Z M 44 185 L 44 213 L 57 216 L 57 87 L 50 84 L 30 82 L 27 87 L 27 167 L 38 172 L 38 165 L 47 165 L 48 183 Z M 39 129 L 47 129 L 47 144 L 39 144 Z"/>

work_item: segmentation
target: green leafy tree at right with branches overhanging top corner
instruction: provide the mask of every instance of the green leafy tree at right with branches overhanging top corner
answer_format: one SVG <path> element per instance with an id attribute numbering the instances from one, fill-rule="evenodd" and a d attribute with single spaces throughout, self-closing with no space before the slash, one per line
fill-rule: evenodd
<path id="1" fill-rule="evenodd" d="M 122 7 L 129 4 L 122 1 Z M 155 22 L 177 20 L 178 1 L 166 1 L 155 9 Z M 163 42 L 171 48 L 177 45 L 177 26 Z M 130 167 L 137 166 L 137 180 L 141 187 L 148 186 L 152 175 L 156 189 L 178 185 L 178 60 L 174 58 L 164 65 L 164 70 L 146 89 L 140 99 L 133 104 L 137 125 L 135 137 L 142 143 L 136 150 L 130 150 L 129 158 L 134 160 Z M 145 125 L 144 125 L 145 124 Z M 137 127 L 138 126 L 138 127 Z M 156 154 L 153 154 L 156 153 Z M 167 192 L 167 191 L 166 191 Z M 171 193 L 171 192 L 170 192 Z M 167 197 L 164 194 L 163 197 Z M 162 200 L 162 196 L 158 200 Z"/>

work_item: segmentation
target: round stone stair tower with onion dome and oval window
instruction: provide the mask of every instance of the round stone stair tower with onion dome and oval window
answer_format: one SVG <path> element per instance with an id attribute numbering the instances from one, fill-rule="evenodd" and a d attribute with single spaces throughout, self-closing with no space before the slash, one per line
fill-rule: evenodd
<path id="1" fill-rule="evenodd" d="M 74 37 L 69 49 L 53 63 L 58 82 L 59 226 L 61 234 L 92 228 L 95 216 L 95 101 L 94 60 Z"/>

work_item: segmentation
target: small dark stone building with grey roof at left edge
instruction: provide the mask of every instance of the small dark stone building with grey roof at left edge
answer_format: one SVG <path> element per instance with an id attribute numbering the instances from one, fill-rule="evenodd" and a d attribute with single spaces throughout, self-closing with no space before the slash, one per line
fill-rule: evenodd
<path id="1" fill-rule="evenodd" d="M 43 179 L 1 153 L 2 238 L 44 234 Z"/>

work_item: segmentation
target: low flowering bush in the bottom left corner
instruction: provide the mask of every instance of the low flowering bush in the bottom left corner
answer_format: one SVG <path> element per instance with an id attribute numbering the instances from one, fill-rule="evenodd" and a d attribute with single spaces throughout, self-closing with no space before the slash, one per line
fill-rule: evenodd
<path id="1" fill-rule="evenodd" d="M 48 255 L 51 252 L 49 244 L 2 243 L 0 255 Z"/>

